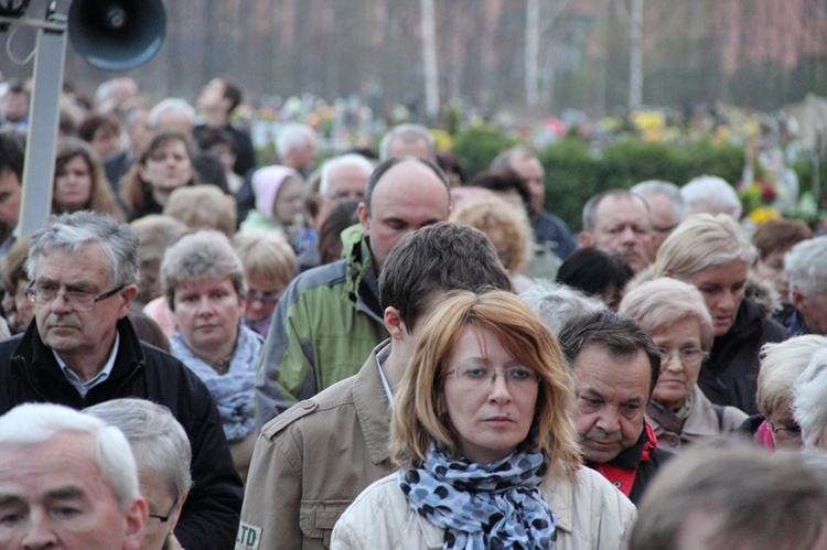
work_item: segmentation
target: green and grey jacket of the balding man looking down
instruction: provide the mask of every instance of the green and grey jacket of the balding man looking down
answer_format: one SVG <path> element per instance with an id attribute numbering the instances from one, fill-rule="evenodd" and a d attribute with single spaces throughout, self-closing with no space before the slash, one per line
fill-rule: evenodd
<path id="1" fill-rule="evenodd" d="M 367 241 L 355 230 L 342 238 L 347 257 L 299 274 L 276 306 L 256 375 L 259 429 L 355 375 L 388 337 Z"/>

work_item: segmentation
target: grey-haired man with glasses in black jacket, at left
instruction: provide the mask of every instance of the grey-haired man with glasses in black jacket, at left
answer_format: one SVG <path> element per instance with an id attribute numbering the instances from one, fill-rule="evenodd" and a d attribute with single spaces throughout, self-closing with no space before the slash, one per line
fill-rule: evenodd
<path id="1" fill-rule="evenodd" d="M 34 321 L 0 344 L 0 413 L 28 401 L 83 409 L 138 397 L 168 407 L 192 442 L 194 487 L 175 535 L 184 548 L 229 548 L 243 488 L 201 380 L 138 339 L 138 237 L 90 212 L 51 217 L 32 236 L 26 289 Z"/>

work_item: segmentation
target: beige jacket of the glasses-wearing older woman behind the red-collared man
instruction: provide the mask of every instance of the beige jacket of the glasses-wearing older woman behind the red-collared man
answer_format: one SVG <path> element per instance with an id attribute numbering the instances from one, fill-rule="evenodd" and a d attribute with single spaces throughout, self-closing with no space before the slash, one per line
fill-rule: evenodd
<path id="1" fill-rule="evenodd" d="M 657 446 L 677 453 L 686 449 L 686 445 L 702 443 L 720 434 L 731 432 L 747 419 L 747 413 L 735 407 L 724 407 L 719 422 L 718 413 L 712 408 L 712 401 L 704 395 L 704 391 L 696 384 L 692 388 L 692 410 L 684 422 L 684 429 L 680 433 L 667 432 L 648 414 L 645 414 L 645 417 L 646 422 L 655 431 Z"/>

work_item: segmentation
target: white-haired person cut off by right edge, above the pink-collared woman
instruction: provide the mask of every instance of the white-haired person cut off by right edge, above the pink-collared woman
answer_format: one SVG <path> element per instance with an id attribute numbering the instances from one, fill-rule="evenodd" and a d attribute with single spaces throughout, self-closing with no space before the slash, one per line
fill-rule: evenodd
<path id="1" fill-rule="evenodd" d="M 784 257 L 792 334 L 827 334 L 827 236 L 803 240 Z"/>

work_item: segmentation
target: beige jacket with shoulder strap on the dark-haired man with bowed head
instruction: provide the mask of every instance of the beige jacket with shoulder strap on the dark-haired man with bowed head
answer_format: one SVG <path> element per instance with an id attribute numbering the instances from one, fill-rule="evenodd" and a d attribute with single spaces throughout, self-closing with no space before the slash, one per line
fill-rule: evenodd
<path id="1" fill-rule="evenodd" d="M 247 476 L 236 550 L 324 549 L 362 490 L 394 468 L 376 347 L 359 371 L 265 424 Z"/>

